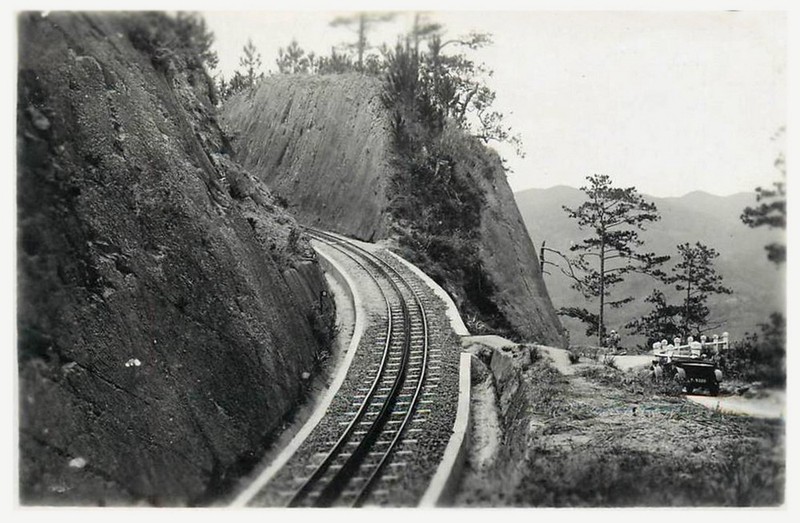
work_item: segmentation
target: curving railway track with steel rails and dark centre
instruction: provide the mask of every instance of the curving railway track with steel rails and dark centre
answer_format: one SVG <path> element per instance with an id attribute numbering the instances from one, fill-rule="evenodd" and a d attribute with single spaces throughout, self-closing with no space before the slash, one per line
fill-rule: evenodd
<path id="1" fill-rule="evenodd" d="M 379 361 L 369 369 L 371 381 L 359 390 L 357 406 L 340 414 L 338 439 L 317 454 L 323 459 L 291 494 L 291 507 L 362 506 L 386 502 L 390 489 L 379 488 L 397 475 L 389 471 L 404 445 L 416 443 L 413 426 L 424 421 L 421 408 L 429 360 L 428 320 L 416 289 L 390 264 L 363 248 L 317 230 L 308 234 L 350 258 L 376 282 L 386 307 L 385 336 Z M 389 471 L 389 472 L 387 472 Z"/>

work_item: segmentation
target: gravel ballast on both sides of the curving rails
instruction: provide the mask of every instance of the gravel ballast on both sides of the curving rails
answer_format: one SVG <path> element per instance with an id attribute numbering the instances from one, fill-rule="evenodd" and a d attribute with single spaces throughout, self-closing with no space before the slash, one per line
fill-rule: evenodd
<path id="1" fill-rule="evenodd" d="M 434 291 L 387 251 L 359 243 L 408 281 L 425 309 L 428 324 L 428 365 L 411 423 L 404 430 L 365 505 L 415 506 L 436 471 L 452 434 L 458 398 L 460 342 L 450 327 L 447 307 Z M 347 375 L 326 415 L 286 465 L 251 500 L 255 506 L 284 506 L 325 457 L 358 409 L 359 395 L 375 378 L 385 345 L 386 300 L 373 277 L 349 256 L 329 245 L 317 245 L 334 258 L 359 286 L 367 325 Z M 383 287 L 388 287 L 384 283 Z M 387 291 L 388 292 L 388 291 Z M 407 300 L 411 301 L 411 292 Z M 390 301 L 392 301 L 390 299 Z M 413 330 L 413 329 L 412 329 Z M 343 370 L 344 371 L 344 370 Z M 398 410 L 398 407 L 395 407 Z M 355 479 L 354 479 L 355 481 Z M 353 486 L 355 488 L 355 485 Z"/>

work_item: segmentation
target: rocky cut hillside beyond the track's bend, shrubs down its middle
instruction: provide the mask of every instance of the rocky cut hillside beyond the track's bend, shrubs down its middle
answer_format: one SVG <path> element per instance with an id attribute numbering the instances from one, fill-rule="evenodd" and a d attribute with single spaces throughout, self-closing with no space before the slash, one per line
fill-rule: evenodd
<path id="1" fill-rule="evenodd" d="M 425 169 L 398 161 L 382 89 L 361 75 L 273 76 L 228 101 L 223 118 L 237 160 L 301 222 L 395 242 L 447 289 L 473 330 L 488 323 L 561 344 L 499 157 L 447 129 L 418 148 L 447 157 L 441 176 L 424 178 Z M 430 158 L 419 161 L 430 166 Z"/>

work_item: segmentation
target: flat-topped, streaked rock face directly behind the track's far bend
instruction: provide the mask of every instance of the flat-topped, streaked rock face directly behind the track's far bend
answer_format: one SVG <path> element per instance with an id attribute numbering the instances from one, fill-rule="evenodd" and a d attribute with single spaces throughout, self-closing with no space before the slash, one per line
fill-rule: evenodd
<path id="1" fill-rule="evenodd" d="M 386 237 L 389 134 L 380 81 L 273 76 L 225 106 L 236 158 L 308 225 Z"/>

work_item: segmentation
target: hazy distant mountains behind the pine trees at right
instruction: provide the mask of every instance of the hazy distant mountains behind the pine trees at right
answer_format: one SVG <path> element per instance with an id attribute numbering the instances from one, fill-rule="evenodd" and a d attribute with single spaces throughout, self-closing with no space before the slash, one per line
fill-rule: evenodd
<path id="1" fill-rule="evenodd" d="M 566 186 L 527 189 L 514 196 L 537 249 L 546 241 L 547 247 L 567 252 L 571 244 L 588 234 L 579 230 L 562 209 L 563 205 L 575 208 L 581 204 L 584 193 L 579 189 Z M 719 332 L 727 330 L 732 339 L 738 339 L 745 332 L 756 331 L 757 325 L 766 321 L 771 312 L 785 310 L 785 266 L 777 267 L 768 261 L 764 250 L 764 245 L 784 237 L 782 231 L 751 229 L 739 219 L 742 210 L 755 203 L 755 193 L 715 196 L 696 191 L 679 198 L 645 198 L 656 204 L 661 220 L 651 223 L 640 234 L 645 241 L 644 249 L 669 254 L 674 259 L 678 244 L 699 241 L 720 253 L 716 268 L 733 294 L 715 296 L 709 301 L 712 320 L 724 323 Z M 557 261 L 552 253 L 545 253 L 545 258 Z M 667 268 L 672 263 L 673 260 L 667 262 Z M 557 309 L 565 306 L 596 308 L 595 303 L 587 304 L 570 288 L 570 280 L 558 269 L 545 267 L 545 270 L 549 272 L 544 276 L 545 283 Z M 630 293 L 636 300 L 622 309 L 608 311 L 607 328 L 620 330 L 628 321 L 646 314 L 650 304 L 644 298 L 657 286 L 668 296 L 677 292 L 668 292 L 647 276 L 630 275 L 628 281 L 616 289 Z M 595 342 L 586 338 L 580 322 L 562 317 L 562 323 L 569 329 L 573 344 Z M 633 346 L 641 341 L 640 337 L 626 335 L 623 330 L 623 345 Z"/>

